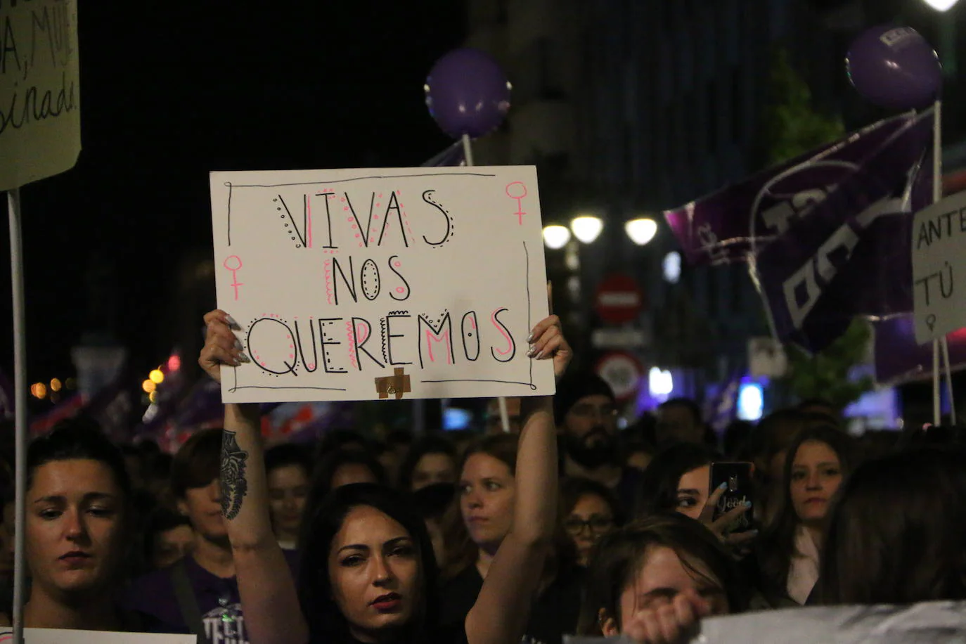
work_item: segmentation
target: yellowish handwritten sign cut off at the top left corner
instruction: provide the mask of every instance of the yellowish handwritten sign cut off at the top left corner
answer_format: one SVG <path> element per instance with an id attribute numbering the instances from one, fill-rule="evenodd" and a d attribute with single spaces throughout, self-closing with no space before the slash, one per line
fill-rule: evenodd
<path id="1" fill-rule="evenodd" d="M 0 0 L 0 190 L 80 154 L 76 0 Z"/>

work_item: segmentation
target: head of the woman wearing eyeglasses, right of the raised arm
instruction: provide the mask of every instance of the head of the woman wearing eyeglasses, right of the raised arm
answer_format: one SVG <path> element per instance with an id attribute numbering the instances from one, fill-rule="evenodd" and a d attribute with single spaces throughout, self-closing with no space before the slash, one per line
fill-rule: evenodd
<path id="1" fill-rule="evenodd" d="M 560 484 L 563 528 L 574 542 L 578 563 L 586 568 L 594 544 L 624 523 L 617 497 L 590 479 L 564 479 Z"/>

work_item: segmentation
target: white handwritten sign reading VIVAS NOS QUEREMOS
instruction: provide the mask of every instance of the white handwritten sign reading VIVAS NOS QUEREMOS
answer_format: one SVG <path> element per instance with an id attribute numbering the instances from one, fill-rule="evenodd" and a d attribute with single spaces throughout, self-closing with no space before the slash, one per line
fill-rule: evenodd
<path id="1" fill-rule="evenodd" d="M 226 402 L 554 392 L 533 167 L 212 173 Z"/>

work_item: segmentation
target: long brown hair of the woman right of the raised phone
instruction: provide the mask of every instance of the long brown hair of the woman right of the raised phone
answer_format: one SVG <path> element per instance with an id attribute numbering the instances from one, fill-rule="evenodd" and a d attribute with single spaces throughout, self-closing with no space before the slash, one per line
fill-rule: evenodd
<path id="1" fill-rule="evenodd" d="M 803 430 L 788 446 L 782 468 L 784 476 L 778 496 L 778 513 L 757 545 L 761 590 L 774 599 L 787 596 L 788 569 L 795 554 L 795 531 L 799 525 L 799 518 L 791 501 L 791 470 L 799 448 L 810 441 L 825 443 L 832 448 L 838 456 L 843 479 L 856 465 L 858 450 L 855 439 L 834 425 L 820 425 Z"/>

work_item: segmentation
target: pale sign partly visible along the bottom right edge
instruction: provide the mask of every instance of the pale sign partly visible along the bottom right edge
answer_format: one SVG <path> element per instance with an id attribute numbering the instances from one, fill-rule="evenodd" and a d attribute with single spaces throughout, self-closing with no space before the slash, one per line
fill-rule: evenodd
<path id="1" fill-rule="evenodd" d="M 564 637 L 564 644 L 605 644 Z M 966 602 L 789 608 L 701 620 L 692 644 L 952 644 L 966 641 Z"/>

